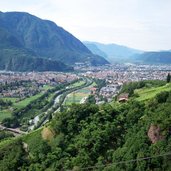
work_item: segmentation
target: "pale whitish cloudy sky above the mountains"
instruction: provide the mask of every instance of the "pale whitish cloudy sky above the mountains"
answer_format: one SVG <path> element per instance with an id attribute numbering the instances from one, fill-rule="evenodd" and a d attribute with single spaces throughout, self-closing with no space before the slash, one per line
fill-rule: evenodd
<path id="1" fill-rule="evenodd" d="M 0 0 L 0 11 L 54 21 L 81 41 L 171 49 L 171 0 Z"/>

